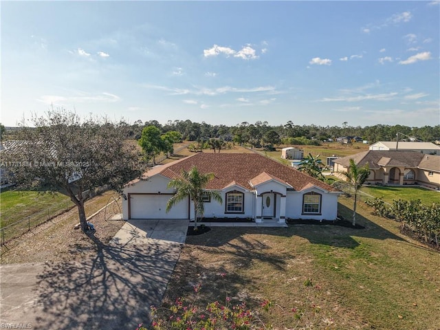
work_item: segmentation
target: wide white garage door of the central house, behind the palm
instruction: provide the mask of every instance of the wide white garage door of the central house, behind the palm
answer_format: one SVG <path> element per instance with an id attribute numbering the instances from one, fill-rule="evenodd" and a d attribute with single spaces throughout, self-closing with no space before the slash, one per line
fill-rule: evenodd
<path id="1" fill-rule="evenodd" d="M 188 199 L 166 212 L 171 195 L 130 195 L 131 219 L 188 219 Z"/>

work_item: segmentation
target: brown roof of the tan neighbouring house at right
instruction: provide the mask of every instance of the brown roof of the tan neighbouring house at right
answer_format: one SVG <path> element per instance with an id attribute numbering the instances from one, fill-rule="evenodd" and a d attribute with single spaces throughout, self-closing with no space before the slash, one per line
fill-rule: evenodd
<path id="1" fill-rule="evenodd" d="M 350 159 L 353 159 L 359 166 L 369 164 L 370 169 L 378 169 L 380 166 L 405 166 L 407 168 L 417 168 L 421 161 L 428 156 L 424 164 L 432 166 L 434 169 L 440 167 L 440 156 L 425 155 L 418 151 L 364 151 L 347 157 L 335 159 L 334 162 L 343 166 L 349 166 Z M 436 164 L 437 162 L 437 164 Z M 431 169 L 431 168 L 429 168 Z"/>

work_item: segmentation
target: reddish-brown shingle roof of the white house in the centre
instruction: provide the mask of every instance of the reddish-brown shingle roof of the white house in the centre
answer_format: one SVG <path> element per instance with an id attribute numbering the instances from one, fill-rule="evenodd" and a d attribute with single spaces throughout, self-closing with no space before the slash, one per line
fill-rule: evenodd
<path id="1" fill-rule="evenodd" d="M 197 153 L 179 159 L 177 162 L 156 166 L 146 175 L 151 177 L 160 174 L 174 179 L 180 175 L 181 170 L 190 170 L 192 166 L 196 166 L 201 173 L 214 173 L 214 179 L 208 183 L 207 189 L 223 189 L 234 183 L 243 188 L 254 190 L 252 185 L 276 179 L 283 184 L 292 186 L 297 191 L 311 186 L 318 186 L 332 192 L 338 191 L 295 168 L 256 153 Z"/>

